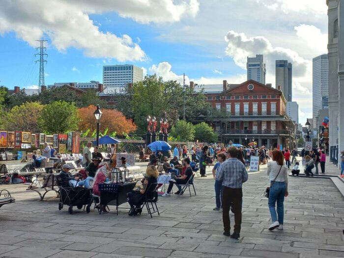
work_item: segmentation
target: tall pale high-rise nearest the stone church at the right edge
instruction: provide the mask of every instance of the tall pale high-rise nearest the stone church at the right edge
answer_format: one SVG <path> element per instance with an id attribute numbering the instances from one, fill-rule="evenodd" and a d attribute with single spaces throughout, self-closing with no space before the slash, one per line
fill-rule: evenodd
<path id="1" fill-rule="evenodd" d="M 313 58 L 313 118 L 318 115 L 320 109 L 324 109 L 324 106 L 328 107 L 327 54 Z"/>

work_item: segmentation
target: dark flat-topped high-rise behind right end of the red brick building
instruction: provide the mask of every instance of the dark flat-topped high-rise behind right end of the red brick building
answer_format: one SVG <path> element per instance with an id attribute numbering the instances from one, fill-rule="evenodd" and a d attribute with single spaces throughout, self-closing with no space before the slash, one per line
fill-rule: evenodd
<path id="1" fill-rule="evenodd" d="M 276 88 L 281 90 L 287 100 L 292 101 L 292 64 L 288 60 L 276 60 Z"/>

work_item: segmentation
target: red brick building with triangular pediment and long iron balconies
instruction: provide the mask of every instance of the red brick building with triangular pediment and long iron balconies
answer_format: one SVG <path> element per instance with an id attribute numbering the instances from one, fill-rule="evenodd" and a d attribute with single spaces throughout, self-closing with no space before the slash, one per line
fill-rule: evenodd
<path id="1" fill-rule="evenodd" d="M 207 92 L 206 101 L 222 114 L 211 118 L 222 143 L 294 147 L 295 125 L 286 114 L 281 90 L 249 80 L 240 85 L 224 81 L 222 92 Z M 246 138 L 246 140 L 245 140 Z"/>

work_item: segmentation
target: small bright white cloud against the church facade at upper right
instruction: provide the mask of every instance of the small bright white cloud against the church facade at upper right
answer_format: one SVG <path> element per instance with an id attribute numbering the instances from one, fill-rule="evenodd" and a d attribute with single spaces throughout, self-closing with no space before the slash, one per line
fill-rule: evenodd
<path id="1" fill-rule="evenodd" d="M 294 29 L 296 30 L 296 35 L 312 49 L 320 53 L 327 53 L 327 33 L 321 33 L 321 30 L 314 25 L 306 24 L 300 24 Z"/>

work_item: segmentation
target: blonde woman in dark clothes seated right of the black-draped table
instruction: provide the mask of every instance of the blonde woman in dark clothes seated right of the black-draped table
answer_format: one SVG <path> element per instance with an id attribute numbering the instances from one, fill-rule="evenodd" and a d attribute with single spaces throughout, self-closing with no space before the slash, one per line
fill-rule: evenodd
<path id="1" fill-rule="evenodd" d="M 146 190 L 150 187 L 152 183 L 157 182 L 159 172 L 154 166 L 148 166 L 145 172 L 145 178 L 143 181 L 143 189 L 138 189 L 138 191 L 132 191 L 131 193 L 128 193 L 127 200 L 130 204 L 130 211 L 129 215 L 134 216 L 136 214 L 141 214 L 142 208 L 141 205 L 144 201 L 144 194 Z M 150 194 L 151 196 L 149 196 Z M 153 199 L 154 196 L 152 196 L 152 192 L 147 194 L 148 199 Z"/>

